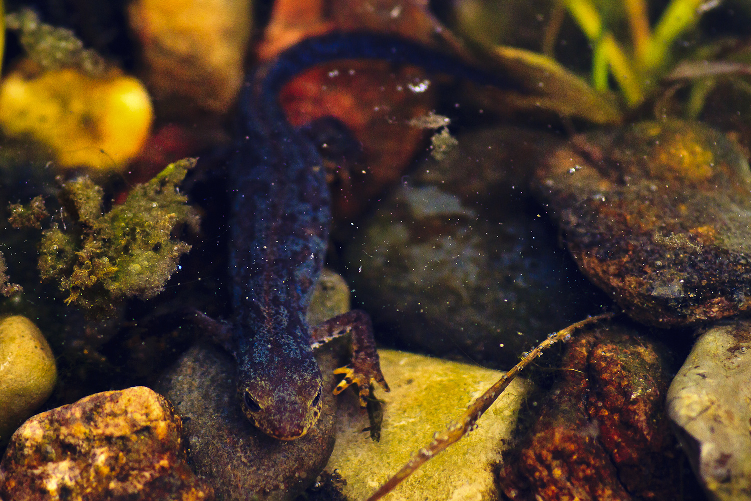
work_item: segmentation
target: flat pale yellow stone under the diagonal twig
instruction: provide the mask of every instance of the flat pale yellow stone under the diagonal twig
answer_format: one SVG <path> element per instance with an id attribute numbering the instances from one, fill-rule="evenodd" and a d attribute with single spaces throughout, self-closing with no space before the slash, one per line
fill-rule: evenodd
<path id="1" fill-rule="evenodd" d="M 354 394 L 346 395 L 336 415 L 336 445 L 326 469 L 338 470 L 346 480 L 342 492 L 349 499 L 372 494 L 502 374 L 406 352 L 381 350 L 379 355 L 391 387 L 391 393 L 378 394 L 383 405 L 380 441 L 363 433 L 370 422 Z M 388 499 L 497 499 L 493 468 L 501 461 L 527 388 L 522 379 L 514 380 L 480 418 L 476 430 L 433 457 Z"/>

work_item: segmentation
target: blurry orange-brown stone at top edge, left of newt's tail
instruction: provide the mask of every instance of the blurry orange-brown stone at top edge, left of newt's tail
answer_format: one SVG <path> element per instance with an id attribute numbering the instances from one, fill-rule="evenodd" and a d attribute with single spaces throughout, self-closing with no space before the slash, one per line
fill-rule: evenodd
<path id="1" fill-rule="evenodd" d="M 178 116 L 195 107 L 231 110 L 243 84 L 252 27 L 249 0 L 134 0 L 131 26 L 143 46 L 146 81 Z"/>

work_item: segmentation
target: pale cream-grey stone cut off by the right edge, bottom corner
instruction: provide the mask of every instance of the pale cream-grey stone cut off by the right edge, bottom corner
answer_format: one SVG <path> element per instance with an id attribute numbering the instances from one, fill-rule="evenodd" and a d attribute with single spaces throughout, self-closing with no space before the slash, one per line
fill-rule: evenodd
<path id="1" fill-rule="evenodd" d="M 710 499 L 751 499 L 751 321 L 712 327 L 668 391 L 668 415 Z"/>

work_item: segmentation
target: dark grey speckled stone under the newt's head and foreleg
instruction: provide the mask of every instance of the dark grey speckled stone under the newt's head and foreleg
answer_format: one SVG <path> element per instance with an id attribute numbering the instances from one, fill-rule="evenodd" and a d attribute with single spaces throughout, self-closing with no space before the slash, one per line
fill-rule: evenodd
<path id="1" fill-rule="evenodd" d="M 308 320 L 315 324 L 348 309 L 346 283 L 324 270 Z M 219 499 L 294 499 L 316 481 L 333 448 L 336 353 L 335 346 L 318 349 L 324 377 L 321 417 L 306 435 L 290 442 L 264 435 L 246 418 L 237 400 L 235 362 L 222 349 L 199 343 L 161 377 L 159 391 L 185 423 L 193 469 L 213 484 Z"/>

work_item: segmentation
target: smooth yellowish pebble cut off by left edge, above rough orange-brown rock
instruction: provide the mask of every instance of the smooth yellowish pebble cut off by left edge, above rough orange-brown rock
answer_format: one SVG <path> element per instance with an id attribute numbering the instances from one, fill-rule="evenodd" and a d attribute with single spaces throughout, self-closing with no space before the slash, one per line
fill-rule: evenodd
<path id="1" fill-rule="evenodd" d="M 23 316 L 0 321 L 0 447 L 55 388 L 55 355 L 37 326 Z"/>

